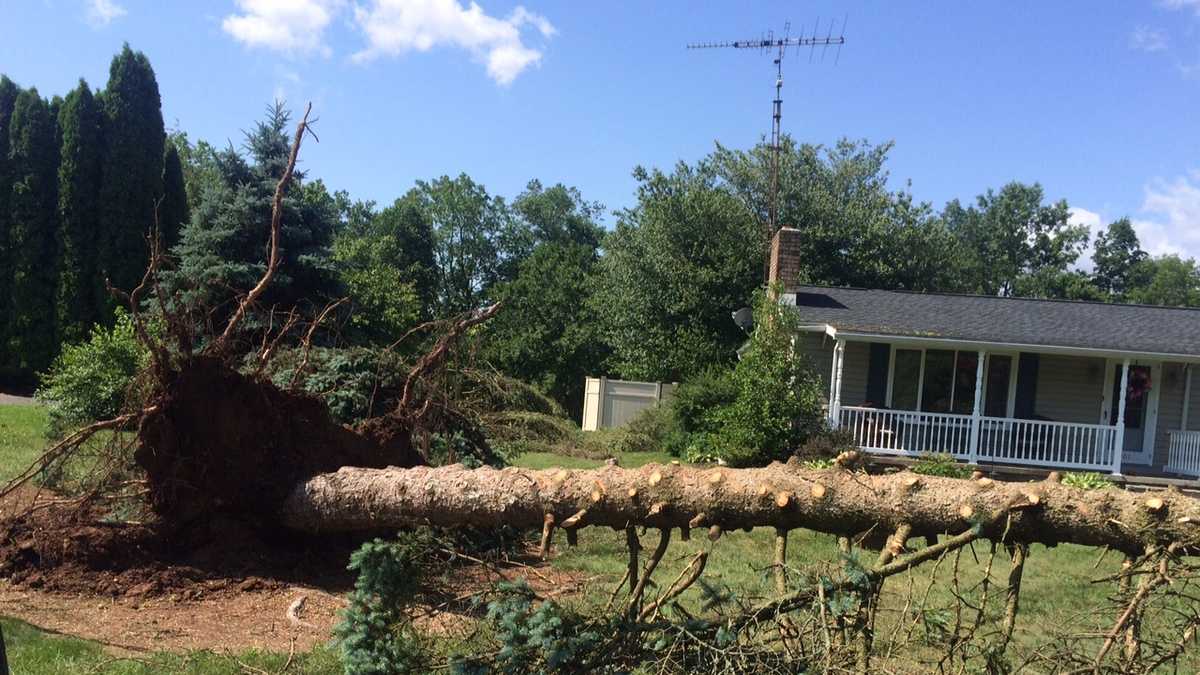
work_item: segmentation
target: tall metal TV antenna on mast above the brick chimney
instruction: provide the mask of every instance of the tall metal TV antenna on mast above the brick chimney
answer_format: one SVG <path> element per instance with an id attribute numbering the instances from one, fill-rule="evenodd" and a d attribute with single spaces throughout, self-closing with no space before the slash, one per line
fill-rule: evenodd
<path id="1" fill-rule="evenodd" d="M 829 20 L 829 28 L 826 35 L 822 37 L 818 35 L 821 30 L 821 19 L 817 19 L 812 24 L 812 32 L 809 36 L 804 35 L 804 29 L 800 29 L 799 37 L 792 37 L 791 30 L 792 24 L 787 22 L 784 24 L 784 36 L 775 37 L 773 30 L 768 30 L 767 34 L 757 40 L 734 40 L 730 42 L 692 42 L 688 44 L 689 49 L 757 49 L 763 53 L 774 53 L 774 65 L 775 65 L 775 100 L 772 106 L 772 124 L 770 124 L 770 204 L 768 207 L 769 215 L 767 222 L 767 240 L 775 235 L 779 229 L 779 156 L 780 156 L 780 143 L 781 143 L 781 123 L 784 118 L 784 56 L 787 55 L 788 48 L 794 48 L 797 53 L 804 47 L 809 48 L 809 62 L 812 62 L 814 55 L 816 54 L 817 47 L 821 47 L 821 60 L 823 61 L 829 47 L 836 46 L 838 52 L 834 55 L 834 65 L 841 59 L 841 46 L 846 43 L 846 19 L 841 22 L 841 30 L 838 36 L 833 35 L 834 22 Z"/>

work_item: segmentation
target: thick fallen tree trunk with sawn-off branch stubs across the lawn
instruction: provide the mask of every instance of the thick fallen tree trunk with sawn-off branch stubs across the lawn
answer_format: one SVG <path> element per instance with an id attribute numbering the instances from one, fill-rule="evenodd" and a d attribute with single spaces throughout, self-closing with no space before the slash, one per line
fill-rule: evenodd
<path id="1" fill-rule="evenodd" d="M 901 526 L 912 537 L 958 533 L 1007 543 L 1074 543 L 1140 552 L 1200 546 L 1200 501 L 1056 482 L 995 483 L 911 472 L 869 476 L 775 462 L 731 470 L 647 465 L 571 471 L 343 467 L 295 486 L 281 522 L 308 532 L 409 525 L 540 528 L 803 527 L 853 536 Z"/>

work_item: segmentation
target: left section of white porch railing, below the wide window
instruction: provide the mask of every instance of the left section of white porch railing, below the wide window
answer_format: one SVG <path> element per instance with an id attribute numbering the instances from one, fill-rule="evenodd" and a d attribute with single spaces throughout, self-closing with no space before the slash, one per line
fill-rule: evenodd
<path id="1" fill-rule="evenodd" d="M 841 429 L 869 453 L 971 455 L 971 418 L 961 414 L 841 406 Z"/>

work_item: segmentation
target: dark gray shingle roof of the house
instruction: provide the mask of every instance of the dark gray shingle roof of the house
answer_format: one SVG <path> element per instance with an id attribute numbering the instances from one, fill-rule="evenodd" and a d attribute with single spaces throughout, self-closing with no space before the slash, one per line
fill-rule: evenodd
<path id="1" fill-rule="evenodd" d="M 1196 309 L 821 286 L 791 294 L 804 323 L 852 333 L 1200 356 Z"/>

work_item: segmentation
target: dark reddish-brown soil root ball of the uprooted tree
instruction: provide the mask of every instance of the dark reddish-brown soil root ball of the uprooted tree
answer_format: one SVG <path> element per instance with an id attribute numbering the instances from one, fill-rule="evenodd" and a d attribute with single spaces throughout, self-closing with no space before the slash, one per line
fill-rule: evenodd
<path id="1" fill-rule="evenodd" d="M 169 522 L 218 513 L 270 520 L 292 488 L 313 474 L 424 464 L 407 429 L 355 432 L 336 423 L 320 400 L 217 359 L 193 358 L 170 377 L 142 420 L 134 454 L 146 472 L 151 507 Z"/>

